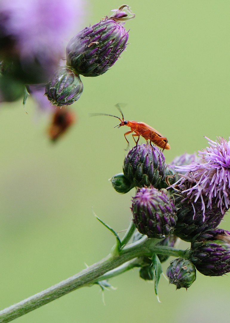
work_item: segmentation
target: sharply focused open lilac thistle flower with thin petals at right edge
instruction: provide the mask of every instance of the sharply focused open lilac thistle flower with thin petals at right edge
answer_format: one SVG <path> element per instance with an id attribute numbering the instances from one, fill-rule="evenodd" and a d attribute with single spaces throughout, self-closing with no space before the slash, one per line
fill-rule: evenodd
<path id="1" fill-rule="evenodd" d="M 222 137 L 218 141 L 206 139 L 210 147 L 199 151 L 200 162 L 176 167 L 177 171 L 185 172 L 177 183 L 181 194 L 193 203 L 201 201 L 204 219 L 206 209 L 212 208 L 213 204 L 222 214 L 230 206 L 230 141 Z"/>

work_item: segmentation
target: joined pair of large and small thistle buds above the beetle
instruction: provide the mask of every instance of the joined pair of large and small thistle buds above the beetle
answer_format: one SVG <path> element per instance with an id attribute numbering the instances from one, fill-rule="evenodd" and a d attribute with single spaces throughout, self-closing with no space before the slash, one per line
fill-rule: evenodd
<path id="1" fill-rule="evenodd" d="M 45 94 L 56 106 L 70 105 L 83 91 L 80 75 L 95 77 L 104 74 L 120 57 L 128 41 L 125 21 L 134 18 L 128 5 L 112 10 L 93 26 L 77 33 L 66 47 L 66 66 L 59 68 L 46 84 Z"/>

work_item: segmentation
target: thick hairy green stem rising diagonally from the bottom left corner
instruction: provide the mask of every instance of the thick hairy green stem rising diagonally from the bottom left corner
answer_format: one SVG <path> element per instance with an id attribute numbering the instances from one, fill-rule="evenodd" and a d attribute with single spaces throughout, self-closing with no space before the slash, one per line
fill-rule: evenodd
<path id="1" fill-rule="evenodd" d="M 62 282 L 47 288 L 34 296 L 26 298 L 17 304 L 5 308 L 0 312 L 0 323 L 10 322 L 15 318 L 41 307 L 77 288 L 93 284 L 101 279 L 106 279 L 106 277 L 110 278 L 112 276 L 116 276 L 119 273 L 128 270 L 130 266 L 133 267 L 135 264 L 134 259 L 137 257 L 144 255 L 151 257 L 155 252 L 178 256 L 184 252 L 183 250 L 176 249 L 174 249 L 176 250 L 174 252 L 173 248 L 166 249 L 167 247 L 156 246 L 158 242 L 158 239 L 148 239 L 145 236 L 130 245 L 124 246 L 123 249 L 119 251 L 119 254 L 112 253 L 94 265 L 82 270 L 80 273 L 63 280 Z M 128 263 L 130 260 L 133 260 L 133 263 Z M 125 263 L 127 264 L 125 265 Z M 124 266 L 121 266 L 123 264 Z M 106 273 L 107 276 L 104 275 Z"/>

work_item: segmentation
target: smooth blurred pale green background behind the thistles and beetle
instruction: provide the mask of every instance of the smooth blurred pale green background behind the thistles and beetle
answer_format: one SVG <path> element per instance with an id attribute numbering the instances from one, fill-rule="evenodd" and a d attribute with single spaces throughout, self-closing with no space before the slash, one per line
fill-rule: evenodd
<path id="1" fill-rule="evenodd" d="M 98 22 L 117 1 L 88 1 L 85 26 Z M 33 99 L 0 110 L 0 307 L 12 305 L 74 275 L 106 256 L 116 231 L 131 218 L 131 192 L 116 193 L 108 179 L 122 171 L 126 129 L 89 113 L 143 121 L 164 134 L 166 161 L 207 145 L 204 135 L 229 136 L 229 1 L 137 1 L 127 51 L 104 75 L 84 78 L 72 107 L 78 121 L 58 141 L 46 136 L 48 120 L 37 118 Z M 82 25 L 82 27 L 84 27 Z M 77 32 L 78 30 L 76 30 Z M 130 142 L 132 138 L 130 138 Z M 133 142 L 132 142 L 133 143 Z M 230 230 L 228 215 L 221 225 Z M 189 247 L 180 243 L 181 248 Z M 166 270 L 168 262 L 164 264 Z M 220 322 L 229 314 L 230 278 L 205 277 L 175 290 L 162 277 L 158 303 L 154 286 L 132 270 L 110 281 L 105 292 L 84 287 L 15 322 Z"/>

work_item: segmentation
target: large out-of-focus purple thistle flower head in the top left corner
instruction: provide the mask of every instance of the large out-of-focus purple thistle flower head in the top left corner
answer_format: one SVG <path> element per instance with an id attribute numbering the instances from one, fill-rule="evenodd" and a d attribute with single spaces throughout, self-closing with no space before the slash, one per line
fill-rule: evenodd
<path id="1" fill-rule="evenodd" d="M 81 0 L 2 0 L 0 57 L 24 83 L 51 77 L 82 16 Z"/>

